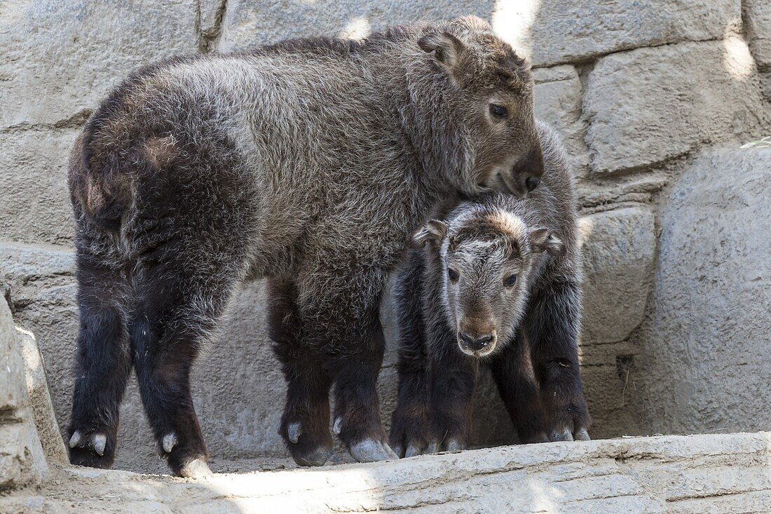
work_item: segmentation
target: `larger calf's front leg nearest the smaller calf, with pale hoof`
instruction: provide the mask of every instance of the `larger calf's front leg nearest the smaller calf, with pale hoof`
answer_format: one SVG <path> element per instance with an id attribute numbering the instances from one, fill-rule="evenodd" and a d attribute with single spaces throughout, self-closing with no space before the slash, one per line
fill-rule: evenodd
<path id="1" fill-rule="evenodd" d="M 359 462 L 398 458 L 380 423 L 376 382 L 385 350 L 379 301 L 382 269 L 325 263 L 298 281 L 304 338 L 323 355 L 335 399 L 332 430 Z"/>

